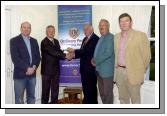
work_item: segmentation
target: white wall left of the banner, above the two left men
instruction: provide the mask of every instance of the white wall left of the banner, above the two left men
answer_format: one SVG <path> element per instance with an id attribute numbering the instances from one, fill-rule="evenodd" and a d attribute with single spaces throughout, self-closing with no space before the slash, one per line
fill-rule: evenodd
<path id="1" fill-rule="evenodd" d="M 47 25 L 57 26 L 57 6 L 36 6 L 36 5 L 21 5 L 12 6 L 12 36 L 20 33 L 20 23 L 29 21 L 32 26 L 31 36 L 35 37 L 40 42 L 45 35 Z M 56 30 L 57 36 L 57 30 Z"/>

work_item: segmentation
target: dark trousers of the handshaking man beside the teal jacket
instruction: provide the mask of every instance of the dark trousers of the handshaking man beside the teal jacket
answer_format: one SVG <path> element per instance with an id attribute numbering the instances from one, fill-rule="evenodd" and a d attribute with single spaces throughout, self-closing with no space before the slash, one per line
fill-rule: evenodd
<path id="1" fill-rule="evenodd" d="M 97 77 L 96 74 L 81 74 L 83 88 L 83 104 L 97 104 Z"/>

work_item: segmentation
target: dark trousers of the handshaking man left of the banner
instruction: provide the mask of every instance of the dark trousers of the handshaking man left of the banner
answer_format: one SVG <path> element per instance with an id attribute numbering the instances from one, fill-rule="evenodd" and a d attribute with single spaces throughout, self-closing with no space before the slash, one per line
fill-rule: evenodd
<path id="1" fill-rule="evenodd" d="M 58 102 L 59 95 L 59 75 L 42 75 L 42 104 L 48 104 L 51 90 L 51 104 Z"/>

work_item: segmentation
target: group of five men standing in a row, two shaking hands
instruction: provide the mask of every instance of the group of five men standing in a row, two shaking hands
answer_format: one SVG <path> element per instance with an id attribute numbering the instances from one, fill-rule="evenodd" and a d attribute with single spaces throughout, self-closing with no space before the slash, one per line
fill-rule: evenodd
<path id="1" fill-rule="evenodd" d="M 122 104 L 139 104 L 140 88 L 149 65 L 150 44 L 145 33 L 132 29 L 132 18 L 123 13 L 119 16 L 121 32 L 115 36 L 109 32 L 110 24 L 101 19 L 101 37 L 93 32 L 90 24 L 84 25 L 85 38 L 80 49 L 68 48 L 65 54 L 54 39 L 55 28 L 46 28 L 46 37 L 41 42 L 42 104 L 58 103 L 61 59 L 80 58 L 80 73 L 84 104 L 97 104 L 97 80 L 102 102 L 113 103 L 113 83 L 116 82 Z M 21 24 L 21 34 L 10 40 L 11 58 L 14 64 L 15 103 L 35 103 L 36 69 L 40 63 L 37 40 L 30 37 L 31 24 Z M 97 45 L 96 45 L 97 44 Z M 114 77 L 115 73 L 115 77 Z"/>

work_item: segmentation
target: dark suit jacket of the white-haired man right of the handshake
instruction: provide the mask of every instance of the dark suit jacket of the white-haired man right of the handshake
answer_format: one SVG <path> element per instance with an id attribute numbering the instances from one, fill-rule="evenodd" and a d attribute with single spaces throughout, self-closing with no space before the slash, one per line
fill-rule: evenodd
<path id="1" fill-rule="evenodd" d="M 95 67 L 91 64 L 94 50 L 99 37 L 96 34 L 92 34 L 88 42 L 83 45 L 86 37 L 82 41 L 81 48 L 75 50 L 75 58 L 80 58 L 80 73 L 81 74 L 95 74 Z"/>

